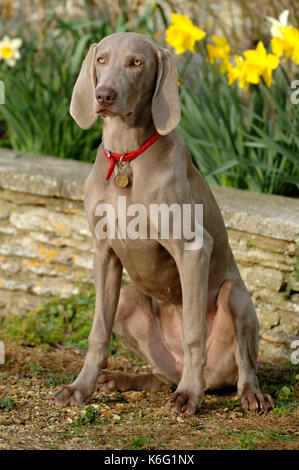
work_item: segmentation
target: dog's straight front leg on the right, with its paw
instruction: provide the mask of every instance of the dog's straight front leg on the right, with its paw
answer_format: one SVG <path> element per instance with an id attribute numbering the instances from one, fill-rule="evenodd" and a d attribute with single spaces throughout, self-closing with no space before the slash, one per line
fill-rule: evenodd
<path id="1" fill-rule="evenodd" d="M 203 370 L 206 364 L 207 299 L 212 238 L 203 230 L 199 250 L 178 250 L 173 256 L 180 274 L 183 297 L 183 373 L 169 407 L 178 413 L 194 414 L 203 394 Z"/>

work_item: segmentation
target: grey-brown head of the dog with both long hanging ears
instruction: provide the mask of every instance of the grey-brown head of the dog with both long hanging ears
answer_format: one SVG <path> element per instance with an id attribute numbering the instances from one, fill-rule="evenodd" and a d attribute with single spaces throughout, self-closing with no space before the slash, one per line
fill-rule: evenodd
<path id="1" fill-rule="evenodd" d="M 177 71 L 170 52 L 137 33 L 116 33 L 92 44 L 76 81 L 70 112 L 83 129 L 98 116 L 130 118 L 151 101 L 159 134 L 180 121 Z"/>

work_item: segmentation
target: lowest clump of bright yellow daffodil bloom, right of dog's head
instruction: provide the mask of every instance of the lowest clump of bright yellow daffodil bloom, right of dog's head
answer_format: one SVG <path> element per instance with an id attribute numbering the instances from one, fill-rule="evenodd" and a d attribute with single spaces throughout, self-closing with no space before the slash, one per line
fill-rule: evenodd
<path id="1" fill-rule="evenodd" d="M 279 65 L 279 60 L 274 54 L 267 54 L 262 42 L 256 49 L 248 49 L 244 52 L 244 58 L 235 57 L 236 66 L 228 67 L 228 80 L 231 85 L 239 80 L 241 88 L 248 90 L 249 84 L 258 85 L 261 77 L 269 87 L 272 83 L 272 71 Z"/>

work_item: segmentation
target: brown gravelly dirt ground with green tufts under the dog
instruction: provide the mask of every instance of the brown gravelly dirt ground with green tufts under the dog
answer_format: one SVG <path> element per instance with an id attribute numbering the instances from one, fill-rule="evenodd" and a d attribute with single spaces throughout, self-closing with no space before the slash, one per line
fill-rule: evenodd
<path id="1" fill-rule="evenodd" d="M 245 414 L 235 390 L 206 395 L 200 413 L 188 418 L 165 409 L 170 391 L 99 392 L 80 407 L 50 406 L 48 398 L 73 379 L 83 359 L 75 349 L 6 345 L 6 363 L 0 366 L 0 449 L 299 448 L 298 408 Z M 109 368 L 148 369 L 113 356 Z M 260 363 L 259 377 L 268 390 L 283 384 L 289 373 L 287 364 Z"/>

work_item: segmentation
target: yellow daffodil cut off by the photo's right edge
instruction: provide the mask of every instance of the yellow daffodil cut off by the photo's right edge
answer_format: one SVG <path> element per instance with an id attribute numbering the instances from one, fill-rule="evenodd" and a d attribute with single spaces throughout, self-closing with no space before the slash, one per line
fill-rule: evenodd
<path id="1" fill-rule="evenodd" d="M 289 57 L 299 65 L 299 30 L 294 26 L 281 26 L 279 37 L 271 40 L 273 53 L 280 58 L 285 54 L 285 59 Z"/>

